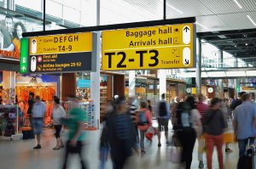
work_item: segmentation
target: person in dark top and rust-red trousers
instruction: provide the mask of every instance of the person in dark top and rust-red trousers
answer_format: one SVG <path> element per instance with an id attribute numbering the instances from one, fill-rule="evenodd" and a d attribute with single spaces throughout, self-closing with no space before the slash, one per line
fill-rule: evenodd
<path id="1" fill-rule="evenodd" d="M 205 115 L 206 127 L 206 144 L 207 144 L 207 168 L 212 169 L 212 152 L 213 147 L 217 147 L 218 151 L 218 167 L 224 169 L 222 147 L 224 144 L 224 114 L 220 110 L 221 99 L 214 98 L 211 100 L 210 109 Z"/>

